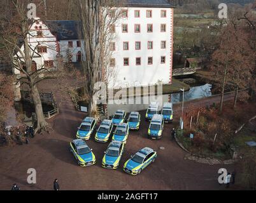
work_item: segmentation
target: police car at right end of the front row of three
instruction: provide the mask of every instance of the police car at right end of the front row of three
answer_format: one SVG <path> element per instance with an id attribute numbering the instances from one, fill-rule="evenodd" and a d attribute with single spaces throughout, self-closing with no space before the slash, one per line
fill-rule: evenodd
<path id="1" fill-rule="evenodd" d="M 136 154 L 131 156 L 131 159 L 127 160 L 124 164 L 124 171 L 126 173 L 137 175 L 140 174 L 145 167 L 150 163 L 155 162 L 157 158 L 157 152 L 152 150 L 152 148 L 145 147 Z"/>

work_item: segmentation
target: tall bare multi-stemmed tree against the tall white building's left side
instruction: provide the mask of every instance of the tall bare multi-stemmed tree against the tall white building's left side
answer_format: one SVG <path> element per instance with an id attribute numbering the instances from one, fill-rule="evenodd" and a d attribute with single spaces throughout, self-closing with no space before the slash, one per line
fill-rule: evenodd
<path id="1" fill-rule="evenodd" d="M 113 76 L 110 68 L 110 42 L 115 39 L 115 26 L 121 16 L 121 1 L 77 0 L 82 21 L 82 39 L 85 48 L 85 62 L 82 63 L 86 75 L 85 91 L 89 96 L 89 112 L 96 112 L 94 86 L 99 81 L 108 83 Z"/>

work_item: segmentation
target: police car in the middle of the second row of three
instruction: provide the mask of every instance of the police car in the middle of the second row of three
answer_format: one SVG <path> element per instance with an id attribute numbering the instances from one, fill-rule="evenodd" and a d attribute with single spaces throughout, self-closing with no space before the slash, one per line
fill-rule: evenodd
<path id="1" fill-rule="evenodd" d="M 110 135 L 113 130 L 113 122 L 111 120 L 103 120 L 101 122 L 101 125 L 97 129 L 97 133 L 95 135 L 95 140 L 97 142 L 108 142 L 108 139 L 110 138 Z"/>

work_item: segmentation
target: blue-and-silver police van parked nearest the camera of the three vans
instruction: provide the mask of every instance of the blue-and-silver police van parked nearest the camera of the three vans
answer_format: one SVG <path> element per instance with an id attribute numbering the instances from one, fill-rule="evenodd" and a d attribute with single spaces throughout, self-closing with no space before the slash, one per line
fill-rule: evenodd
<path id="1" fill-rule="evenodd" d="M 164 118 L 162 115 L 153 115 L 148 128 L 148 136 L 152 139 L 160 139 L 164 130 Z"/>

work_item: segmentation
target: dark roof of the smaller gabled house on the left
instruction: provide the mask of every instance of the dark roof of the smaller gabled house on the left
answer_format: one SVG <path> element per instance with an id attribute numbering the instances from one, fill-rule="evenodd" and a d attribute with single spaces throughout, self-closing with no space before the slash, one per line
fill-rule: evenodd
<path id="1" fill-rule="evenodd" d="M 81 39 L 81 22 L 76 20 L 46 20 L 45 21 L 52 34 L 57 40 Z"/>

